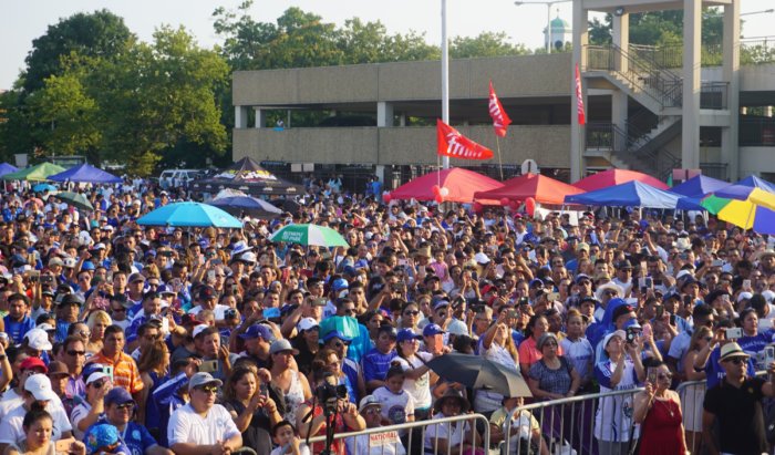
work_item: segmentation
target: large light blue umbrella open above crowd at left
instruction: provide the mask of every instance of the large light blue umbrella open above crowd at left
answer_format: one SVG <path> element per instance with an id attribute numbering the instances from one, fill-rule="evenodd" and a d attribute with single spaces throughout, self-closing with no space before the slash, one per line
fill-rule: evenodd
<path id="1" fill-rule="evenodd" d="M 137 220 L 141 226 L 219 227 L 239 229 L 242 221 L 207 204 L 174 203 L 159 207 Z"/>

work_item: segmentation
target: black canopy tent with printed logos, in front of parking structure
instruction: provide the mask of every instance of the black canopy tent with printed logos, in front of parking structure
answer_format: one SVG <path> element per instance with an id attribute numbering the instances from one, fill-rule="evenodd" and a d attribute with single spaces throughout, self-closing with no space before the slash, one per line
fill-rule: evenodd
<path id="1" fill-rule="evenodd" d="M 211 177 L 194 180 L 192 187 L 205 193 L 218 193 L 224 188 L 236 188 L 250 195 L 299 195 L 304 193 L 301 186 L 276 176 L 250 157 L 236 162 Z"/>

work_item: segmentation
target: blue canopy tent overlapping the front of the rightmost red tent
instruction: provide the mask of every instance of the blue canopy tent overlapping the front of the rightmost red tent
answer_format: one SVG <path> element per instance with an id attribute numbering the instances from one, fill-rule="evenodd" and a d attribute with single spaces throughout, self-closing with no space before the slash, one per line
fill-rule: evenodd
<path id="1" fill-rule="evenodd" d="M 648 207 L 674 209 L 681 196 L 654 188 L 642 182 L 632 180 L 626 184 L 602 188 L 580 195 L 565 197 L 566 204 L 581 204 L 604 207 Z"/>

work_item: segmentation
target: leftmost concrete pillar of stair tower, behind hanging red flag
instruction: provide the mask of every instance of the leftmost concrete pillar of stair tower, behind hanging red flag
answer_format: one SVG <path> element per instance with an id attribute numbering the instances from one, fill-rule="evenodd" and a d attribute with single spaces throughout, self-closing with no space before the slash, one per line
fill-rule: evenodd
<path id="1" fill-rule="evenodd" d="M 574 2 L 574 60 L 568 69 L 568 74 L 575 73 L 576 63 L 583 71 L 587 66 L 587 44 L 589 42 L 588 12 L 583 8 L 583 1 Z M 576 77 L 570 79 L 570 180 L 576 182 L 585 173 L 583 165 L 583 130 L 579 125 L 576 112 Z M 586 104 L 585 104 L 586 105 Z"/>

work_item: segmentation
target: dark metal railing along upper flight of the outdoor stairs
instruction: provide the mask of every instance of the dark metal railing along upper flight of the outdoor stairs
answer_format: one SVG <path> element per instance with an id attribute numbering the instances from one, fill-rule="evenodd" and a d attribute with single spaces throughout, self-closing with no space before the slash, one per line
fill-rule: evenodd
<path id="1" fill-rule="evenodd" d="M 678 74 L 649 59 L 630 55 L 617 45 L 587 45 L 586 49 L 585 71 L 613 72 L 662 107 L 681 106 L 683 82 Z M 627 68 L 622 68 L 624 65 Z"/>

